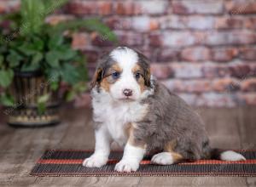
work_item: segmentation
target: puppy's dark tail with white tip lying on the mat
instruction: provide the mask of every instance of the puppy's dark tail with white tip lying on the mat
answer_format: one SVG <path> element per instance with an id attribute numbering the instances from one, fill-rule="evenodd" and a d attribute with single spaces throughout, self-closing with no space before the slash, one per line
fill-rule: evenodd
<path id="1" fill-rule="evenodd" d="M 234 150 L 220 150 L 220 149 L 210 149 L 208 158 L 217 159 L 221 161 L 245 161 L 246 158 L 240 153 L 235 152 Z"/>

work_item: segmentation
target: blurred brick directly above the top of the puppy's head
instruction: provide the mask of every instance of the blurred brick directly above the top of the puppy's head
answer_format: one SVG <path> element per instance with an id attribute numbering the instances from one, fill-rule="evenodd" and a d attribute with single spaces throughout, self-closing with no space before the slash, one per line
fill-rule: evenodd
<path id="1" fill-rule="evenodd" d="M 120 31 L 117 32 L 119 44 L 125 46 L 143 46 L 143 34 L 136 32 Z"/>

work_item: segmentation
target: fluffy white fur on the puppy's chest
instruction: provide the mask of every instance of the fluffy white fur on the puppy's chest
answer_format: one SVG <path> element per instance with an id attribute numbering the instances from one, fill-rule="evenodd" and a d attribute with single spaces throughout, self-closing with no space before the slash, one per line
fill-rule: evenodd
<path id="1" fill-rule="evenodd" d="M 107 127 L 108 133 L 120 146 L 128 139 L 127 128 L 132 122 L 142 121 L 148 105 L 134 102 L 116 102 L 108 97 L 92 99 L 94 122 Z"/>

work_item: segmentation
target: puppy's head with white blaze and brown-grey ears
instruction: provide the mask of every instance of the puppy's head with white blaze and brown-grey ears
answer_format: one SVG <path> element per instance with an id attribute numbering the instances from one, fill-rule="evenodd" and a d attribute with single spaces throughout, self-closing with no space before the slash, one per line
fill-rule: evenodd
<path id="1" fill-rule="evenodd" d="M 131 48 L 115 48 L 97 65 L 91 87 L 116 100 L 141 99 L 151 88 L 148 59 Z"/>

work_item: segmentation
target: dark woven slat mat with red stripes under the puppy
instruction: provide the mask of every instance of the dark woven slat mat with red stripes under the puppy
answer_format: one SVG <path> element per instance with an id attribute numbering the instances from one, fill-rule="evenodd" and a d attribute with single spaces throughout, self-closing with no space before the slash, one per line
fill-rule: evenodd
<path id="1" fill-rule="evenodd" d="M 237 151 L 237 150 L 236 150 Z M 150 163 L 145 156 L 137 172 L 118 173 L 113 170 L 122 151 L 112 151 L 108 164 L 101 168 L 83 167 L 90 150 L 46 150 L 30 173 L 32 176 L 256 176 L 256 150 L 238 150 L 247 161 L 200 160 L 168 166 Z"/>

